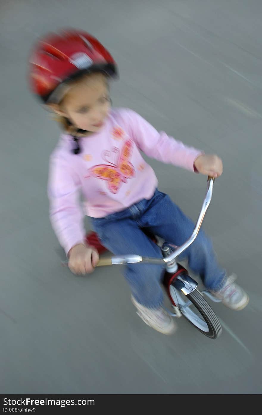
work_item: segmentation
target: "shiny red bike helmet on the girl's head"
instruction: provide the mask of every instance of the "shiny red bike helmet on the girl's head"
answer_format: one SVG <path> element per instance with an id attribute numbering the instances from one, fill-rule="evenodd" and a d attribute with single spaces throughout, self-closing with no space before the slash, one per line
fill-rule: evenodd
<path id="1" fill-rule="evenodd" d="M 116 63 L 89 33 L 68 29 L 40 39 L 32 51 L 29 83 L 44 103 L 58 103 L 63 87 L 82 73 L 104 72 L 117 76 Z"/>

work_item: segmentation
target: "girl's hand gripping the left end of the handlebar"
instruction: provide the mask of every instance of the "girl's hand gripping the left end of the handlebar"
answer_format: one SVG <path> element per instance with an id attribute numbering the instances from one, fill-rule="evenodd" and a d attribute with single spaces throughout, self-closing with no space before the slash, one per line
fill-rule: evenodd
<path id="1" fill-rule="evenodd" d="M 96 249 L 78 244 L 69 251 L 68 267 L 73 274 L 89 274 L 94 271 L 98 260 L 99 254 Z"/>

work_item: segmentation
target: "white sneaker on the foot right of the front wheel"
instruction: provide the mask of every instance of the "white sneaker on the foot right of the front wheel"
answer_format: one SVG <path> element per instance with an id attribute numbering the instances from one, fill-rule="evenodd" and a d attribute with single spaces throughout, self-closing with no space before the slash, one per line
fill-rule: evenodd
<path id="1" fill-rule="evenodd" d="M 230 275 L 221 290 L 210 292 L 232 310 L 243 310 L 249 302 L 249 297 L 243 288 L 234 282 L 236 278 L 235 274 Z"/>

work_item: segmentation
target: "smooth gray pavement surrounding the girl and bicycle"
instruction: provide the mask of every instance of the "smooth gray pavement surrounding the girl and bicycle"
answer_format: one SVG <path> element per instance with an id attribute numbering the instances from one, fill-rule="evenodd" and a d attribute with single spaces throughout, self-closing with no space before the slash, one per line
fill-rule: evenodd
<path id="1" fill-rule="evenodd" d="M 261 393 L 261 19 L 259 0 L 1 1 L 1 393 Z M 112 51 L 115 106 L 223 159 L 204 228 L 250 304 L 212 304 L 217 341 L 184 318 L 172 337 L 144 325 L 121 268 L 61 267 L 46 196 L 59 130 L 25 79 L 32 42 L 65 25 Z M 150 164 L 196 219 L 204 176 Z"/>

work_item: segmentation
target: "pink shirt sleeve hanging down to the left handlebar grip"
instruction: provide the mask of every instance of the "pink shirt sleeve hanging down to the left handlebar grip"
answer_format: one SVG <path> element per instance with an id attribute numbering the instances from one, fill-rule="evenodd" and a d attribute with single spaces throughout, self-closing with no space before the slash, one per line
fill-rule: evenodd
<path id="1" fill-rule="evenodd" d="M 50 157 L 47 193 L 51 225 L 68 256 L 73 246 L 85 243 L 85 227 L 80 179 L 61 156 Z"/>

